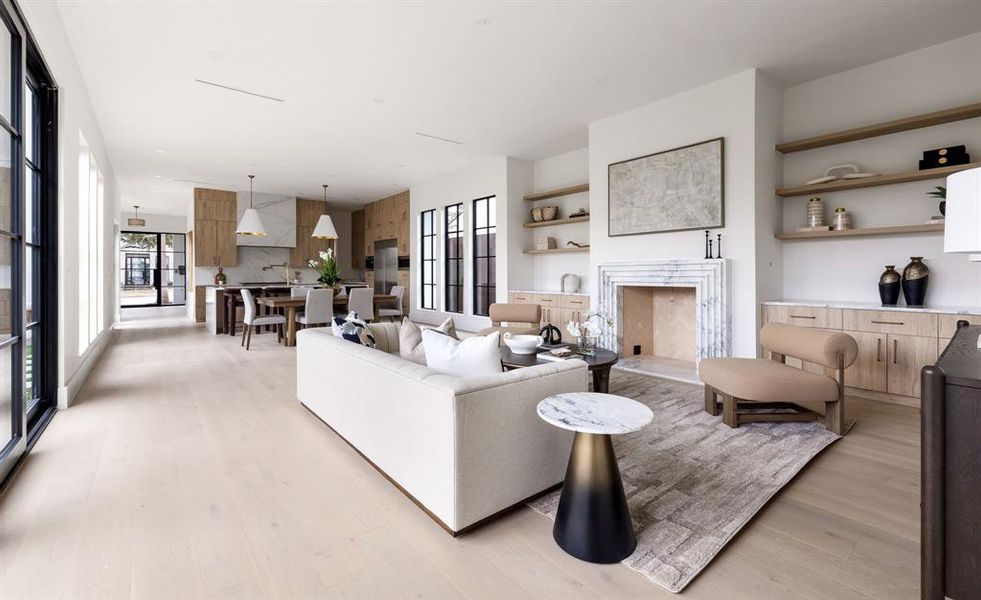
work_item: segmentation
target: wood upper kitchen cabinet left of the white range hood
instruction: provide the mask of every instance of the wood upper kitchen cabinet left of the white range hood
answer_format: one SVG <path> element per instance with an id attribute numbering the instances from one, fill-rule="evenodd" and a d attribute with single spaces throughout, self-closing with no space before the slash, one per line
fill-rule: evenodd
<path id="1" fill-rule="evenodd" d="M 238 263 L 235 192 L 194 188 L 194 266 Z"/>

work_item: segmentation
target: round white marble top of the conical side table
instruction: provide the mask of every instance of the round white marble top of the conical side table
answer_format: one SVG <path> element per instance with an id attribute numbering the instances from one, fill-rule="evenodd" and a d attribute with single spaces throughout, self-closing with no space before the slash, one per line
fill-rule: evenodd
<path id="1" fill-rule="evenodd" d="M 538 416 L 546 423 L 579 433 L 617 434 L 643 428 L 654 413 L 623 396 L 572 392 L 539 402 Z"/>

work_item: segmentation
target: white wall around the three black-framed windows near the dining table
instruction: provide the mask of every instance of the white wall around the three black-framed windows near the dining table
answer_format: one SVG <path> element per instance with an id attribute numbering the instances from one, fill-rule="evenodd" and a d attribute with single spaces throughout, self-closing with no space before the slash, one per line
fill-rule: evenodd
<path id="1" fill-rule="evenodd" d="M 497 157 L 450 175 L 438 177 L 416 184 L 409 189 L 409 239 L 419 239 L 419 214 L 424 210 L 436 209 L 436 279 L 442 282 L 443 265 L 443 221 L 441 209 L 444 206 L 464 203 L 464 313 L 448 313 L 443 307 L 442 287 L 437 288 L 437 310 L 419 308 L 420 258 L 414 258 L 411 265 L 412 298 L 409 302 L 412 320 L 422 323 L 439 323 L 452 316 L 457 327 L 467 331 L 477 331 L 490 325 L 487 317 L 473 315 L 471 286 L 473 273 L 470 266 L 472 248 L 469 235 L 471 228 L 470 201 L 486 196 L 497 196 L 497 301 L 506 302 L 509 273 L 515 281 L 531 282 L 532 266 L 529 256 L 521 253 L 524 230 L 520 226 L 518 207 L 524 209 L 523 196 L 531 189 L 532 167 L 528 161 L 508 157 Z M 506 224 L 506 225 L 505 225 Z M 517 224 L 517 226 L 516 226 Z"/>

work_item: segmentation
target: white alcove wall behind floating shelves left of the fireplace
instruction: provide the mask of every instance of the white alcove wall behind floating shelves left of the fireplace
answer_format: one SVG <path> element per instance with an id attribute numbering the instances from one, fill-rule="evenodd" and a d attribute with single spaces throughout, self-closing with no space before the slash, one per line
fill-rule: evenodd
<path id="1" fill-rule="evenodd" d="M 533 168 L 533 193 L 586 183 L 589 180 L 589 148 L 579 148 L 572 152 L 537 160 Z M 525 204 L 527 206 L 525 206 L 522 214 L 522 222 L 531 220 L 531 216 L 528 213 L 533 205 L 530 202 L 526 202 Z M 559 207 L 559 218 L 568 217 L 580 208 L 589 208 L 589 193 L 583 192 L 554 200 L 544 200 L 536 202 L 534 206 L 545 206 L 549 204 Z M 533 239 L 529 242 L 529 247 L 533 247 L 534 240 L 546 236 L 554 237 L 556 245 L 560 248 L 565 247 L 566 242 L 569 240 L 578 243 L 589 242 L 589 223 L 542 227 L 539 229 L 530 229 L 529 231 L 533 232 Z M 528 288 L 530 290 L 557 292 L 561 289 L 561 279 L 565 273 L 578 275 L 581 288 L 583 290 L 589 289 L 591 271 L 589 269 L 588 254 L 537 255 L 533 257 L 533 266 L 534 281 L 532 282 L 532 286 Z M 512 283 L 511 287 L 512 289 L 524 289 L 514 283 Z"/>

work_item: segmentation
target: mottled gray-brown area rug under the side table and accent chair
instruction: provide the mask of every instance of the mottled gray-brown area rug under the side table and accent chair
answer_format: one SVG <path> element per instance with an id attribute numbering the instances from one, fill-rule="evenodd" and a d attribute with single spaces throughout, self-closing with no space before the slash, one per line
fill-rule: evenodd
<path id="1" fill-rule="evenodd" d="M 680 592 L 807 463 L 838 439 L 820 423 L 738 429 L 704 410 L 700 386 L 613 370 L 610 393 L 654 411 L 645 429 L 613 436 L 637 534 L 623 564 Z M 555 518 L 559 492 L 529 505 Z"/>

